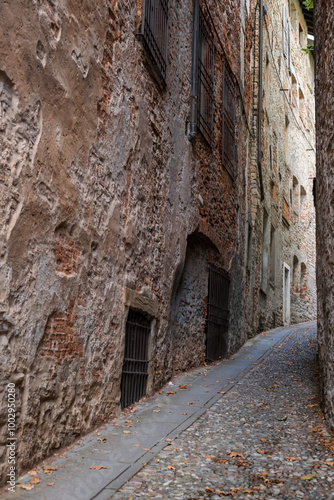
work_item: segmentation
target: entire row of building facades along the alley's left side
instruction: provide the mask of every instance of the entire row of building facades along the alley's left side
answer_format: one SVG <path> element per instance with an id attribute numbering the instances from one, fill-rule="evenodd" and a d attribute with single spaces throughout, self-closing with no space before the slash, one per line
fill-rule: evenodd
<path id="1" fill-rule="evenodd" d="M 312 55 L 299 3 L 263 20 L 260 3 L 0 5 L 1 397 L 16 384 L 21 470 L 314 317 Z"/>

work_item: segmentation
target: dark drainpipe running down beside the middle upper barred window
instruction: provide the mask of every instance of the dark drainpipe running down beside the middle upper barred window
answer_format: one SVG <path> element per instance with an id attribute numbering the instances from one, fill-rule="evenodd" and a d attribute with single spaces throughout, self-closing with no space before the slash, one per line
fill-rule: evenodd
<path id="1" fill-rule="evenodd" d="M 194 141 L 197 132 L 197 69 L 198 69 L 199 0 L 193 0 L 193 53 L 191 66 L 191 104 L 189 141 Z"/>

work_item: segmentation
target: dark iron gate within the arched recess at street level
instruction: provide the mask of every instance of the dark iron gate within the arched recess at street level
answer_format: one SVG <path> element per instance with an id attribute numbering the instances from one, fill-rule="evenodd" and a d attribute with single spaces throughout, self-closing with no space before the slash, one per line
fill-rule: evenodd
<path id="1" fill-rule="evenodd" d="M 229 326 L 229 287 L 227 273 L 211 265 L 207 315 L 206 357 L 217 361 L 227 353 Z"/>

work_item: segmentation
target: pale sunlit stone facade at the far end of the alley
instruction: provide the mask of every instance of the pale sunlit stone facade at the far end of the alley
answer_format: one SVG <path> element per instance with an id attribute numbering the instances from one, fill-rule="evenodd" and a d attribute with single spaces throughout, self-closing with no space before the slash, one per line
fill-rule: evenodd
<path id="1" fill-rule="evenodd" d="M 290 23 L 291 51 L 283 52 L 283 6 Z M 292 25 L 293 9 L 305 24 L 298 2 L 266 2 L 263 43 L 262 176 L 256 156 L 248 169 L 247 318 L 249 331 L 316 316 L 315 211 L 312 186 L 315 176 L 314 96 L 312 55 L 302 51 L 299 24 Z M 296 14 L 297 15 L 297 14 Z M 304 26 L 306 30 L 306 25 Z M 297 31 L 296 31 L 297 30 Z M 256 33 L 259 44 L 259 33 Z M 257 77 L 258 68 L 254 74 Z M 294 80 L 298 83 L 294 84 Z M 256 81 L 256 91 L 258 81 Z M 303 113 L 293 91 L 303 92 Z M 293 188 L 294 179 L 298 180 Z M 303 193 L 301 197 L 300 193 Z M 293 200 L 292 193 L 296 200 Z M 301 202 L 302 198 L 302 202 Z M 295 266 L 293 284 L 294 258 Z M 303 265 L 303 267 L 301 267 Z M 284 267 L 285 266 L 285 267 Z M 290 313 L 285 316 L 283 276 L 290 268 L 287 291 Z"/>

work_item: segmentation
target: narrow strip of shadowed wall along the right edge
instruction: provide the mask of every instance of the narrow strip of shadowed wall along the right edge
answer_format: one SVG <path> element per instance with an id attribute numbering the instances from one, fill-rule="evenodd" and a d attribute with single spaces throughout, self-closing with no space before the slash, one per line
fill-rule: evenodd
<path id="1" fill-rule="evenodd" d="M 334 428 L 333 6 L 332 0 L 315 2 L 318 340 L 323 409 L 332 428 Z"/>

